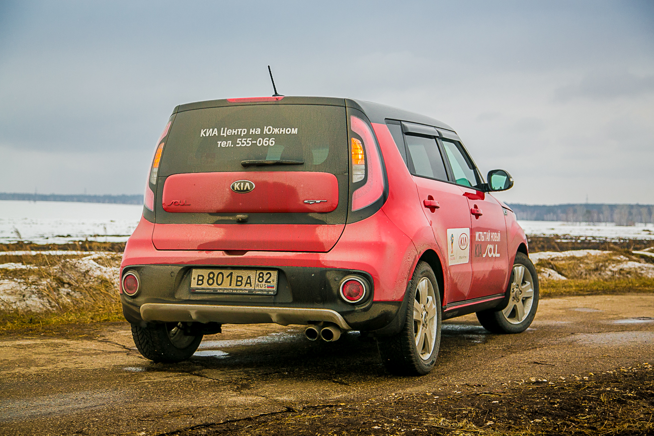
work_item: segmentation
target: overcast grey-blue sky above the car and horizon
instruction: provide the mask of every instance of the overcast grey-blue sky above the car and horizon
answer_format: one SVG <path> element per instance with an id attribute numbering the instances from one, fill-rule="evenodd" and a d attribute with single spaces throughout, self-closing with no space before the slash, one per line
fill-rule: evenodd
<path id="1" fill-rule="evenodd" d="M 453 126 L 509 203 L 654 203 L 649 0 L 0 0 L 0 192 L 142 193 L 172 109 L 266 65 Z"/>

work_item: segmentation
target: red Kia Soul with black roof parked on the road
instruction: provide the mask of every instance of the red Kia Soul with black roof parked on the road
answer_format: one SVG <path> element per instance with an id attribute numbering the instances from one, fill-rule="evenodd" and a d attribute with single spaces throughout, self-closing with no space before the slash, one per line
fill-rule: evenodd
<path id="1" fill-rule="evenodd" d="M 192 356 L 223 324 L 360 331 L 396 374 L 422 375 L 441 322 L 477 313 L 519 333 L 538 277 L 515 214 L 455 131 L 384 105 L 323 97 L 201 101 L 173 110 L 121 264 L 137 348 Z"/>

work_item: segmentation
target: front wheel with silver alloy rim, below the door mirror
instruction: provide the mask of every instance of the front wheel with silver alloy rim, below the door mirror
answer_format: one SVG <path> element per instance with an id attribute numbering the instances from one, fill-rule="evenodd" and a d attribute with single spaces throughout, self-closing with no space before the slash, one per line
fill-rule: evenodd
<path id="1" fill-rule="evenodd" d="M 523 268 L 524 274 L 519 277 Z M 520 281 L 518 284 L 517 282 Z M 531 290 L 531 293 L 529 293 Z M 534 320 L 538 310 L 539 287 L 536 267 L 528 256 L 518 252 L 511 268 L 507 298 L 501 309 L 477 312 L 477 319 L 485 329 L 492 333 L 522 333 Z M 522 306 L 523 315 L 519 306 Z"/>

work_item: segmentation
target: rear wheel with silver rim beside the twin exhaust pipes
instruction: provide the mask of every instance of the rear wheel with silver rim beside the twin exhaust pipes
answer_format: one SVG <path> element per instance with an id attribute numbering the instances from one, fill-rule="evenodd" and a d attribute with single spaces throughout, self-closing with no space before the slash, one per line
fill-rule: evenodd
<path id="1" fill-rule="evenodd" d="M 428 280 L 428 284 L 423 282 L 425 278 Z M 420 301 L 422 294 L 419 293 L 419 284 L 422 286 L 421 289 L 427 288 L 425 295 L 428 299 L 426 299 L 424 305 Z M 407 292 L 409 292 L 409 295 L 407 295 L 409 303 L 407 304 L 406 320 L 402 331 L 392 337 L 377 339 L 377 348 L 379 349 L 381 361 L 389 373 L 394 375 L 425 375 L 432 370 L 436 363 L 441 342 L 441 297 L 436 276 L 428 263 L 418 262 L 409 286 L 407 286 Z M 419 316 L 417 320 L 414 319 L 414 307 L 423 308 L 417 314 Z M 418 335 L 422 338 L 421 343 L 423 346 L 420 350 L 419 345 L 416 343 L 419 340 L 417 339 L 416 329 L 418 329 Z M 430 339 L 434 343 L 433 346 L 430 344 L 432 342 Z"/>

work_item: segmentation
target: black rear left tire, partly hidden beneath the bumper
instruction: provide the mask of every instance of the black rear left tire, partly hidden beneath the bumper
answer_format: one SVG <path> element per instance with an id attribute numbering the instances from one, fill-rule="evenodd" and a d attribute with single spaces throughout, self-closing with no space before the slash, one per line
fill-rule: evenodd
<path id="1" fill-rule="evenodd" d="M 184 326 L 178 322 L 148 327 L 132 325 L 131 335 L 144 358 L 163 363 L 190 358 L 202 341 L 202 335 L 185 335 Z"/>

